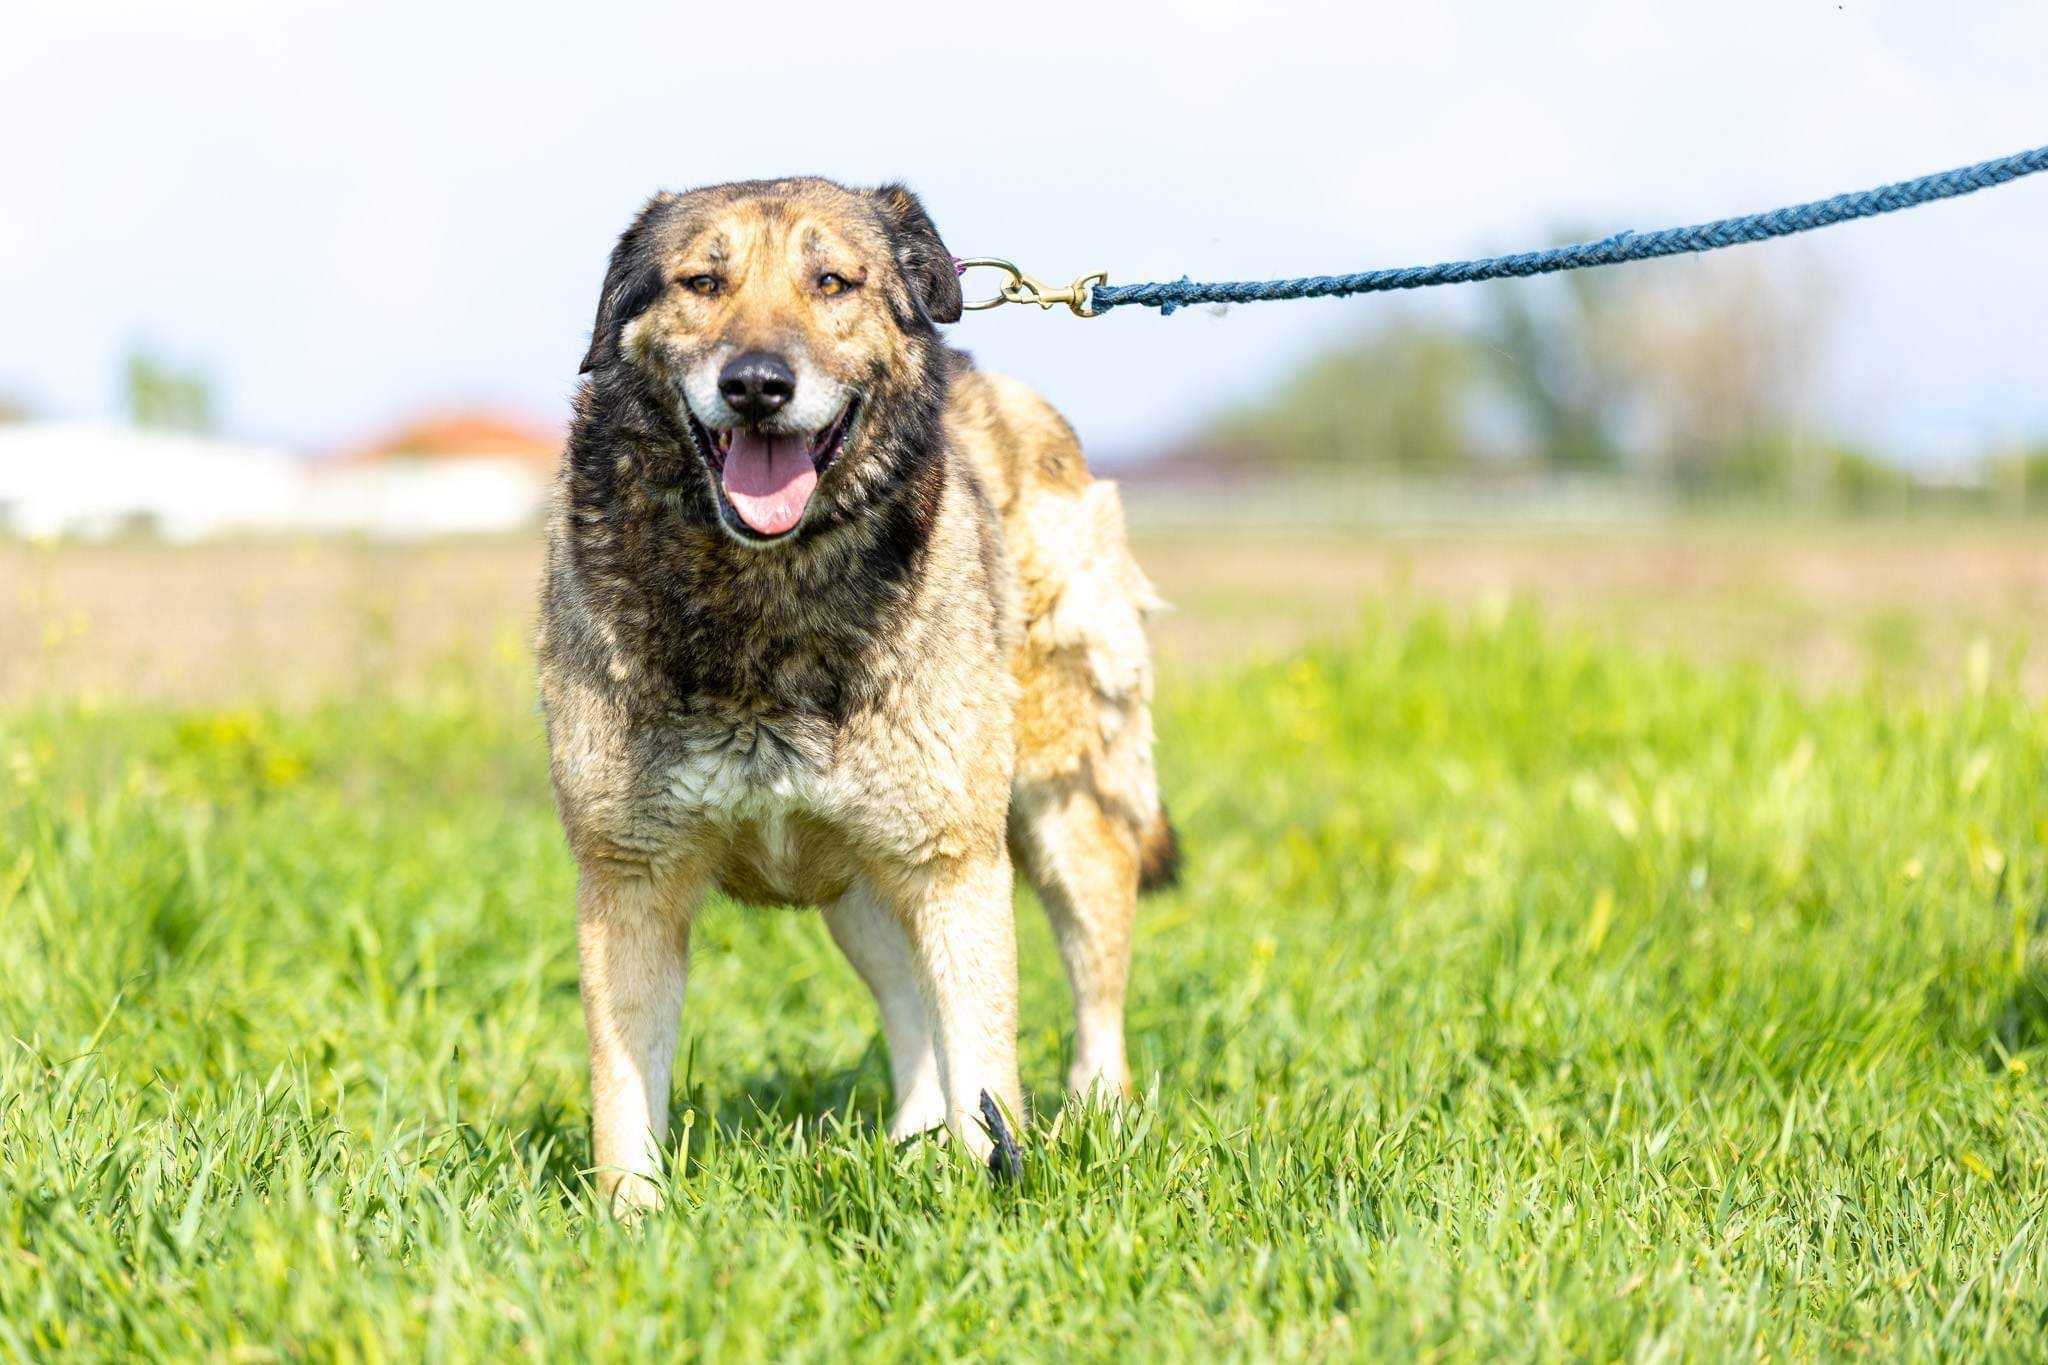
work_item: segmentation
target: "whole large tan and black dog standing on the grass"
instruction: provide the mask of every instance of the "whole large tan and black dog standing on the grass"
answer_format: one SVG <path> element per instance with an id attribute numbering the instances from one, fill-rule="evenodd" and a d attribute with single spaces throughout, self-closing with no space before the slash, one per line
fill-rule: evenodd
<path id="1" fill-rule="evenodd" d="M 1130 923 L 1178 864 L 1161 604 L 1116 487 L 1044 399 L 946 346 L 958 317 L 903 186 L 664 192 L 610 254 L 539 675 L 616 1209 L 657 1199 L 711 888 L 821 909 L 881 1007 L 889 1134 L 942 1128 L 995 1166 L 991 1128 L 1024 1121 L 1016 866 L 1073 988 L 1067 1085 L 1128 1093 Z"/>

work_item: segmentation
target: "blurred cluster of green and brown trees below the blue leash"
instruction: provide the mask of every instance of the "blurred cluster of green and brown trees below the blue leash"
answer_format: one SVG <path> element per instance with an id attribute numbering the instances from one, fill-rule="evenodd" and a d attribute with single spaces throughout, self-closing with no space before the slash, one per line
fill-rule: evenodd
<path id="1" fill-rule="evenodd" d="M 1475 325 L 1409 317 L 1339 342 L 1223 413 L 1204 444 L 1231 463 L 1300 469 L 1432 477 L 1538 465 L 1708 495 L 1860 505 L 1898 495 L 1894 471 L 1808 430 L 1829 297 L 1810 270 L 1772 264 L 1683 260 L 1491 284 Z"/>

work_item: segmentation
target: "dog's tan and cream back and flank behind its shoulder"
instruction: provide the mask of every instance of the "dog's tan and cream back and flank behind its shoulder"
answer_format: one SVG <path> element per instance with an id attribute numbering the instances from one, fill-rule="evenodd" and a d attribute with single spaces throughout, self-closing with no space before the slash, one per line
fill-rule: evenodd
<path id="1" fill-rule="evenodd" d="M 1169 884 L 1180 851 L 1153 772 L 1145 641 L 1145 618 L 1163 602 L 1130 557 L 1116 485 L 1094 479 L 1065 417 L 1006 375 L 963 370 L 946 428 L 1001 518 L 1010 553 L 1022 622 L 1010 661 L 1018 814 L 1069 806 L 1067 825 L 1083 827 L 1071 837 L 1098 857 L 1128 860 L 1143 888 Z M 1038 821 L 1012 825 L 1022 833 Z M 1051 849 L 1016 853 L 1034 882 L 1049 876 Z"/>

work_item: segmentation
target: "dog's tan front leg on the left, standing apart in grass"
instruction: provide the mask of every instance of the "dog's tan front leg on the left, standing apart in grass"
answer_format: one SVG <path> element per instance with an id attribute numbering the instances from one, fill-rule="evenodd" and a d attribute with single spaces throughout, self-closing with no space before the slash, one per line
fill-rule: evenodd
<path id="1" fill-rule="evenodd" d="M 598 1189 L 618 1214 L 659 1199 L 696 886 L 668 870 L 586 864 L 575 945 L 590 1036 Z"/>

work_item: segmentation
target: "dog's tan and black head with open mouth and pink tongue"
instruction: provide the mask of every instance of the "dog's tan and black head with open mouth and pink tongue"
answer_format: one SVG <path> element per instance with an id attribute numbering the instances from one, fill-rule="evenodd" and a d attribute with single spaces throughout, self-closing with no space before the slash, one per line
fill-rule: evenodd
<path id="1" fill-rule="evenodd" d="M 643 381 L 690 436 L 721 526 L 770 546 L 887 471 L 891 413 L 932 401 L 961 317 L 938 231 L 901 186 L 766 180 L 655 196 L 618 239 L 584 370 Z"/>

